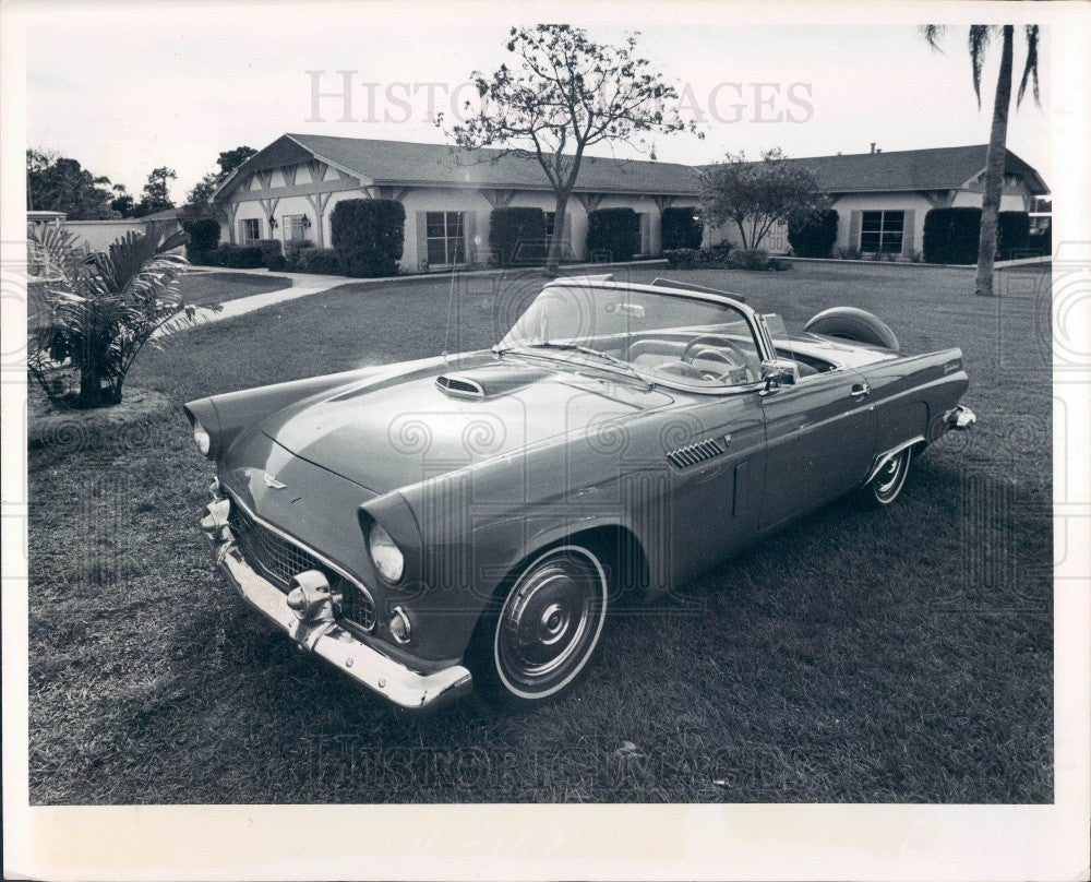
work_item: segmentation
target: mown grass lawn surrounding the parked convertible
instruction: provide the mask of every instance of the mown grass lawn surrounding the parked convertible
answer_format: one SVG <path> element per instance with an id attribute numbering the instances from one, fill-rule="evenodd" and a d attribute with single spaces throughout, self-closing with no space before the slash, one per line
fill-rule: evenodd
<path id="1" fill-rule="evenodd" d="M 851 303 L 909 350 L 960 345 L 978 430 L 916 461 L 890 511 L 831 505 L 618 617 L 559 703 L 421 718 L 214 574 L 180 414 L 58 439 L 29 461 L 32 802 L 1052 801 L 1045 277 L 1005 273 L 995 300 L 960 270 L 684 277 L 790 326 Z M 131 382 L 181 402 L 488 345 L 536 283 L 473 284 L 346 285 L 185 332 Z"/>

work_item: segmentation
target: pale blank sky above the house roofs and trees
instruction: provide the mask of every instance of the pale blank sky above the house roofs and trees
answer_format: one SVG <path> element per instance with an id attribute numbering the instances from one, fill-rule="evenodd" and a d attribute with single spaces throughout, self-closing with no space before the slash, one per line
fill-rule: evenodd
<path id="1" fill-rule="evenodd" d="M 135 193 L 153 168 L 167 165 L 178 172 L 172 195 L 181 202 L 221 151 L 260 148 L 284 132 L 444 142 L 430 110 L 460 112 L 459 86 L 475 69 L 492 71 L 507 57 L 515 19 L 506 11 L 526 9 L 466 4 L 464 14 L 452 15 L 455 8 L 395 15 L 391 5 L 364 3 L 43 7 L 28 28 L 27 146 L 76 158 Z M 676 17 L 690 23 L 639 27 L 639 47 L 675 83 L 683 114 L 702 123 L 705 136 L 657 138 L 659 159 L 697 164 L 728 152 L 756 157 L 772 146 L 813 156 L 866 153 L 872 142 L 896 151 L 988 140 L 999 51 L 994 47 L 990 57 L 979 108 L 964 25 L 949 28 L 938 52 L 911 23 Z M 600 41 L 624 35 L 602 15 L 588 19 L 568 16 Z M 1051 183 L 1047 33 L 1041 55 L 1042 106 L 1028 99 L 1012 109 L 1008 146 Z M 1017 69 L 1022 59 L 1020 35 Z M 320 92 L 339 93 L 338 71 L 351 71 L 350 122 L 341 121 L 336 96 L 321 98 L 314 114 L 315 82 Z M 642 155 L 626 145 L 596 152 Z"/>

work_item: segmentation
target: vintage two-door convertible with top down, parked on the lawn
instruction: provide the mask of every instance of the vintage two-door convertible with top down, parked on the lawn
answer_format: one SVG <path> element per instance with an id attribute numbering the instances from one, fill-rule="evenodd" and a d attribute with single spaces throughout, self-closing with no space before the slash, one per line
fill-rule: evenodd
<path id="1" fill-rule="evenodd" d="M 242 597 L 403 707 L 571 688 L 609 611 L 855 493 L 974 415 L 962 353 L 838 307 L 560 278 L 492 349 L 185 405 L 202 528 Z"/>

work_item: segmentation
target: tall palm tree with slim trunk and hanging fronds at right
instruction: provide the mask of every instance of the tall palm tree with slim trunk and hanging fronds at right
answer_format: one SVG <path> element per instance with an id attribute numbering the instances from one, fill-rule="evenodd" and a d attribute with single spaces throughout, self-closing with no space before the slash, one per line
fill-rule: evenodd
<path id="1" fill-rule="evenodd" d="M 939 48 L 943 25 L 928 24 L 921 28 L 925 40 L 933 49 Z M 973 92 L 981 107 L 981 71 L 985 55 L 993 38 L 1000 35 L 1000 71 L 996 80 L 996 96 L 993 100 L 993 126 L 988 135 L 988 154 L 985 160 L 985 192 L 981 203 L 981 239 L 978 246 L 976 293 L 983 297 L 993 296 L 993 263 L 996 260 L 997 215 L 1000 211 L 1000 187 L 1004 183 L 1004 165 L 1007 158 L 1008 111 L 1011 108 L 1011 65 L 1015 43 L 1015 25 L 974 24 L 970 26 L 968 46 L 970 67 L 973 73 Z M 1022 104 L 1027 86 L 1031 86 L 1034 104 L 1040 105 L 1038 86 L 1038 38 L 1036 24 L 1024 25 L 1027 38 L 1027 61 L 1019 81 L 1016 107 Z"/>

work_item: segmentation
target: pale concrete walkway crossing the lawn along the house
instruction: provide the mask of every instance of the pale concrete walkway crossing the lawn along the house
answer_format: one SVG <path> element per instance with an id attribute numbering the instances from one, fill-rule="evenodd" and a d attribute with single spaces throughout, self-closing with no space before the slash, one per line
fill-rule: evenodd
<path id="1" fill-rule="evenodd" d="M 610 272 L 616 267 L 643 267 L 643 266 L 666 266 L 666 260 L 628 261 L 627 263 L 577 263 L 562 267 L 564 275 L 572 271 L 589 271 L 595 273 Z M 176 319 L 160 327 L 155 336 L 164 336 L 187 327 L 195 327 L 208 322 L 232 319 L 237 315 L 244 315 L 257 309 L 284 303 L 288 300 L 296 300 L 300 297 L 309 297 L 312 294 L 322 294 L 331 288 L 339 288 L 343 285 L 388 285 L 396 282 L 403 285 L 416 285 L 420 283 L 449 284 L 453 279 L 479 278 L 488 276 L 503 275 L 504 273 L 520 272 L 519 269 L 500 267 L 494 270 L 467 270 L 457 273 L 421 273 L 407 276 L 385 276 L 383 278 L 349 278 L 347 276 L 312 275 L 310 273 L 275 273 L 269 270 L 229 270 L 227 267 L 194 267 L 190 272 L 207 275 L 209 273 L 237 273 L 239 275 L 264 276 L 266 278 L 286 278 L 290 283 L 288 287 L 264 294 L 254 294 L 250 297 L 240 297 L 237 300 L 228 300 L 221 305 L 221 309 L 213 310 L 207 307 L 199 307 L 194 321 L 188 323 Z"/>

